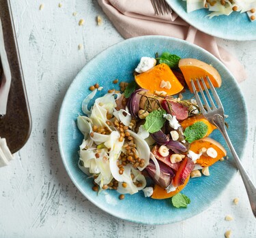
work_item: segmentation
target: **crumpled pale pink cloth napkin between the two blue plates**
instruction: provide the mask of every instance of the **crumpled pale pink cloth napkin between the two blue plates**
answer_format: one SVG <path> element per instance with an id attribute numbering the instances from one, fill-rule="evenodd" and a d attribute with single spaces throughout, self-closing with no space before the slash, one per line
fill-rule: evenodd
<path id="1" fill-rule="evenodd" d="M 233 73 L 238 82 L 246 79 L 238 59 L 216 44 L 216 39 L 198 31 L 175 12 L 157 16 L 150 0 L 98 0 L 106 16 L 124 38 L 166 35 L 185 39 L 208 50 Z"/>

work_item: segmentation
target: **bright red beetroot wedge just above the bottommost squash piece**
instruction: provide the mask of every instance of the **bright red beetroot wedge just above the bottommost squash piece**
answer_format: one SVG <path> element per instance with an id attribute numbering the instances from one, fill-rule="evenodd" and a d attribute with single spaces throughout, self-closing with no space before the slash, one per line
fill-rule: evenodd
<path id="1" fill-rule="evenodd" d="M 193 163 L 193 160 L 186 156 L 180 163 L 180 169 L 173 179 L 173 186 L 177 187 L 184 184 L 186 178 L 190 175 L 191 171 L 193 171 L 194 167 L 195 164 Z"/>

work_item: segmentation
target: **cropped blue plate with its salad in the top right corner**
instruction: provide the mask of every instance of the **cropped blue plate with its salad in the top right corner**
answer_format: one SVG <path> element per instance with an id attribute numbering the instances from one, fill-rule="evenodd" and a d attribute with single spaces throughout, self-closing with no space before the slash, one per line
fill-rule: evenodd
<path id="1" fill-rule="evenodd" d="M 238 41 L 256 39 L 255 0 L 165 0 L 188 24 L 208 35 Z"/>

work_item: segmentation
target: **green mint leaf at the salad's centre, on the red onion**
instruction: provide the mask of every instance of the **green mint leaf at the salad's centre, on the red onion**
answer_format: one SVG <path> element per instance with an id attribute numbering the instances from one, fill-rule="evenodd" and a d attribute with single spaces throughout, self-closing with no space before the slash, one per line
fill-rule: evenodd
<path id="1" fill-rule="evenodd" d="M 150 112 L 150 114 L 148 114 L 148 116 L 145 118 L 146 122 L 143 125 L 145 130 L 147 130 L 149 133 L 160 131 L 162 126 L 165 124 L 165 120 L 166 120 L 163 117 L 164 114 L 166 114 L 164 109 Z"/>

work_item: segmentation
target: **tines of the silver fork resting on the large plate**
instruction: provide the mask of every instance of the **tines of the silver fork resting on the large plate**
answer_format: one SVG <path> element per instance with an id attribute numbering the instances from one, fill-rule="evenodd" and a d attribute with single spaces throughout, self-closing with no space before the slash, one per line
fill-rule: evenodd
<path id="1" fill-rule="evenodd" d="M 213 95 L 218 107 L 216 107 L 216 105 L 214 104 L 214 101 L 212 100 L 212 97 L 210 95 L 208 87 L 206 86 L 205 81 L 203 80 L 203 78 L 202 77 L 200 79 L 197 78 L 196 82 L 197 82 L 197 86 L 199 88 L 199 91 L 201 92 L 201 97 L 203 99 L 203 103 L 205 104 L 205 107 L 203 106 L 203 104 L 201 102 L 201 99 L 200 99 L 199 94 L 197 92 L 197 89 L 195 87 L 195 83 L 193 82 L 193 80 L 191 80 L 191 85 L 192 85 L 192 88 L 193 88 L 193 92 L 195 94 L 195 99 L 197 101 L 197 104 L 199 105 L 199 108 L 201 109 L 202 114 L 206 113 L 205 108 L 206 108 L 207 112 L 210 112 L 212 110 L 216 110 L 216 109 L 219 109 L 219 108 L 223 108 L 223 105 L 221 104 L 221 100 L 218 97 L 217 92 L 216 92 L 214 86 L 212 85 L 212 82 L 210 81 L 210 78 L 208 76 L 206 76 L 206 80 L 208 82 L 208 85 L 210 86 L 210 90 L 212 91 L 212 95 Z M 202 88 L 202 86 L 203 86 L 203 88 Z M 208 100 L 206 99 L 205 94 L 203 93 L 203 90 L 205 90 L 205 93 L 208 97 Z M 210 102 L 210 104 L 208 103 L 208 101 Z"/>

